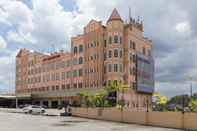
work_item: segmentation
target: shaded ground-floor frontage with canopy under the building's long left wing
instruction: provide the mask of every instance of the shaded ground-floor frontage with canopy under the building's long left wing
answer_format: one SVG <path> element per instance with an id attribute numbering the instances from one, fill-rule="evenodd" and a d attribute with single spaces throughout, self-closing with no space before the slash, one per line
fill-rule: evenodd
<path id="1" fill-rule="evenodd" d="M 90 94 L 95 94 L 101 89 L 86 89 Z M 69 91 L 50 91 L 50 92 L 33 92 L 29 94 L 16 94 L 17 105 L 35 104 L 43 105 L 47 108 L 64 107 L 68 104 L 79 106 L 79 93 L 83 89 L 70 89 Z"/>

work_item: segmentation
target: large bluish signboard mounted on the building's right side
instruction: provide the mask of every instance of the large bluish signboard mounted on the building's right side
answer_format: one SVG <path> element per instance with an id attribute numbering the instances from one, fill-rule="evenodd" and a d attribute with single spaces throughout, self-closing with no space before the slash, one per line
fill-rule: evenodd
<path id="1" fill-rule="evenodd" d="M 137 54 L 137 91 L 144 93 L 154 92 L 154 60 Z"/>

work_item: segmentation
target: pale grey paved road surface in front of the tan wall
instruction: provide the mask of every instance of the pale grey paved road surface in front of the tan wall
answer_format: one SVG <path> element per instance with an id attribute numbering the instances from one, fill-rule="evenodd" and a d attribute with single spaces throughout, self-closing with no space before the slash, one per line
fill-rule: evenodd
<path id="1" fill-rule="evenodd" d="M 180 131 L 175 129 L 90 120 L 0 112 L 0 131 Z"/>

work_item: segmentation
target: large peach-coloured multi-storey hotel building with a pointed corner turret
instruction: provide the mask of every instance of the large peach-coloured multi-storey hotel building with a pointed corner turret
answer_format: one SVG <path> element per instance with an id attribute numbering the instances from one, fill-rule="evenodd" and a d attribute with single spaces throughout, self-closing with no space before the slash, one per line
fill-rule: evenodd
<path id="1" fill-rule="evenodd" d="M 106 25 L 91 20 L 83 34 L 72 37 L 70 52 L 44 54 L 21 49 L 16 56 L 17 98 L 55 108 L 76 104 L 82 90 L 96 93 L 110 81 L 118 81 L 129 86 L 124 93 L 126 106 L 145 110 L 147 102 L 151 104 L 154 80 L 146 81 L 152 85 L 151 91 L 143 90 L 146 86 L 138 90 L 137 55 L 152 58 L 152 42 L 144 37 L 143 29 L 142 22 L 132 18 L 124 22 L 114 9 Z M 145 76 L 152 78 L 146 72 Z"/>

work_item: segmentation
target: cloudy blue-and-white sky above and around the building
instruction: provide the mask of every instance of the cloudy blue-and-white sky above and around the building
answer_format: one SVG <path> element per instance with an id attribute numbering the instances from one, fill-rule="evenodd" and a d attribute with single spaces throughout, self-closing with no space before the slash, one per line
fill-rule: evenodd
<path id="1" fill-rule="evenodd" d="M 14 92 L 15 56 L 20 48 L 70 50 L 70 38 L 91 19 L 105 25 L 113 8 L 144 23 L 153 41 L 155 90 L 171 97 L 197 92 L 196 0 L 0 0 L 0 93 Z"/>

